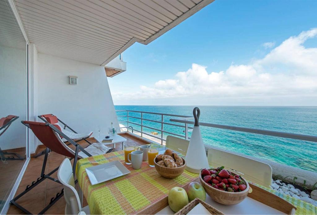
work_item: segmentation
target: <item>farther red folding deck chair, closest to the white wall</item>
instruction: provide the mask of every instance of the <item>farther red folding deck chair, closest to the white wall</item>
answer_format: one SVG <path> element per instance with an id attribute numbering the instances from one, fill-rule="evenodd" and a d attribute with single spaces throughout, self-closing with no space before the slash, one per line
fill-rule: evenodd
<path id="1" fill-rule="evenodd" d="M 66 123 L 63 123 L 59 118 L 57 118 L 56 116 L 54 116 L 53 114 L 44 114 L 41 116 L 38 116 L 41 120 L 43 120 L 46 123 L 50 123 L 53 125 L 58 125 L 61 128 L 61 131 L 66 134 L 69 138 L 71 138 L 74 142 L 79 142 L 79 141 L 86 141 L 87 143 L 91 144 L 91 142 L 89 142 L 87 140 L 87 138 L 89 138 L 92 135 L 92 131 L 88 132 L 88 133 L 81 133 L 78 134 L 76 131 L 74 131 L 71 127 L 69 127 Z M 71 131 L 68 131 L 66 129 L 69 129 Z M 68 142 L 65 138 L 62 138 L 63 142 Z M 68 145 L 70 145 L 70 143 L 68 143 Z M 34 157 L 38 157 L 41 155 L 45 154 L 46 150 L 43 150 L 42 152 L 40 152 L 39 154 L 35 155 Z"/>

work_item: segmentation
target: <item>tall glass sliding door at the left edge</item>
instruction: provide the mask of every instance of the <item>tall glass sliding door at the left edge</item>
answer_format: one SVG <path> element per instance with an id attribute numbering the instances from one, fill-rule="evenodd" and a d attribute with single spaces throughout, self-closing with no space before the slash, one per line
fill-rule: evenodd
<path id="1" fill-rule="evenodd" d="M 9 2 L 0 0 L 0 211 L 27 158 L 27 64 L 27 42 Z"/>

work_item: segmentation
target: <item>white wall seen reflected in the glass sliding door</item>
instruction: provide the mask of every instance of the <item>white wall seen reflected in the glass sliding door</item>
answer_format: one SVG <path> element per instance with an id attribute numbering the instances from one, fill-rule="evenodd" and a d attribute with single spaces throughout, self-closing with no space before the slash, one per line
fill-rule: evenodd
<path id="1" fill-rule="evenodd" d="M 0 137 L 2 150 L 26 145 L 27 68 L 26 49 L 0 46 L 0 118 L 19 116 Z"/>

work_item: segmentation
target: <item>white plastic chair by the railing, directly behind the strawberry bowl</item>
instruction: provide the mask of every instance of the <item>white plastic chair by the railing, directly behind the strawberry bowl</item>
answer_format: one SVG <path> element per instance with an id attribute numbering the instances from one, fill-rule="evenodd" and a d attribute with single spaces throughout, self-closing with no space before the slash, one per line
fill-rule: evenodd
<path id="1" fill-rule="evenodd" d="M 265 187 L 271 185 L 272 168 L 266 163 L 213 148 L 208 150 L 207 158 L 212 167 L 224 166 L 246 180 Z"/>

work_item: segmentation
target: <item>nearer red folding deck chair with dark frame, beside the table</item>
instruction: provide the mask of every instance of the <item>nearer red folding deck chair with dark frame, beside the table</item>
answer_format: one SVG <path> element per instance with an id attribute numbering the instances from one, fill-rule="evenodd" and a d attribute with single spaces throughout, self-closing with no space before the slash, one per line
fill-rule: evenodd
<path id="1" fill-rule="evenodd" d="M 16 200 L 21 198 L 23 195 L 28 193 L 31 189 L 39 185 L 43 180 L 50 179 L 57 183 L 61 182 L 58 179 L 52 178 L 51 175 L 55 173 L 59 167 L 55 168 L 53 171 L 49 172 L 48 174 L 45 174 L 45 168 L 46 168 L 46 162 L 48 159 L 48 155 L 50 150 L 67 157 L 70 157 L 70 159 L 74 159 L 74 165 L 73 165 L 73 175 L 75 174 L 75 168 L 76 163 L 78 159 L 84 158 L 84 157 L 90 157 L 92 155 L 101 155 L 105 153 L 109 153 L 112 151 L 111 148 L 105 146 L 102 143 L 93 143 L 89 145 L 87 148 L 81 147 L 78 143 L 74 142 L 71 138 L 69 138 L 66 134 L 62 132 L 60 127 L 58 125 L 53 125 L 49 123 L 40 123 L 40 122 L 31 122 L 31 121 L 22 121 L 22 123 L 30 128 L 35 136 L 47 147 L 45 151 L 45 157 L 42 165 L 42 171 L 41 176 L 37 178 L 36 181 L 33 181 L 31 185 L 28 185 L 22 193 L 17 195 L 14 199 L 12 199 L 10 202 L 11 204 L 15 205 L 19 209 L 21 209 L 23 212 L 27 214 L 31 214 L 27 209 L 25 209 L 23 206 L 16 203 Z M 69 148 L 61 139 L 61 137 L 65 138 L 70 144 L 74 145 L 76 147 L 75 151 L 71 148 Z M 55 202 L 60 199 L 63 196 L 63 189 L 60 193 L 57 193 L 54 198 L 50 200 L 49 205 L 47 205 L 39 214 L 43 214 L 46 212 L 52 205 L 55 204 Z"/>

